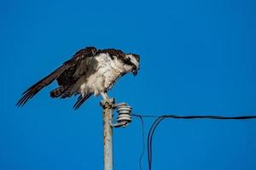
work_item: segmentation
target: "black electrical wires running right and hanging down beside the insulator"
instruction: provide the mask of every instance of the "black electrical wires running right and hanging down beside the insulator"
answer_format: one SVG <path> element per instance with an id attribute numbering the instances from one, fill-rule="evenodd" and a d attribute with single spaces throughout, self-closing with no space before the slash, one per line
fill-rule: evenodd
<path id="1" fill-rule="evenodd" d="M 131 115 L 131 116 L 137 116 L 141 119 L 142 125 L 143 125 L 143 153 L 140 157 L 140 168 L 142 170 L 141 161 L 144 154 L 144 122 L 143 117 L 148 118 L 155 118 L 153 124 L 149 128 L 148 131 L 148 139 L 147 139 L 147 151 L 148 151 L 148 169 L 152 170 L 152 150 L 153 150 L 153 137 L 156 127 L 166 118 L 173 118 L 173 119 L 215 119 L 215 120 L 245 120 L 245 119 L 256 119 L 256 116 L 175 116 L 175 115 L 164 115 L 164 116 L 147 116 L 147 115 Z"/>

